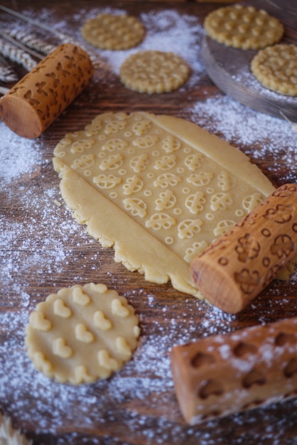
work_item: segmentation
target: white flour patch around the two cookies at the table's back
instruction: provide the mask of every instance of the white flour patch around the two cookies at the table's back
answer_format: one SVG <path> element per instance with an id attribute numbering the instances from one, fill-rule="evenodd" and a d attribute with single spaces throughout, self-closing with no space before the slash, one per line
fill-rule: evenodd
<path id="1" fill-rule="evenodd" d="M 56 33 L 64 33 L 66 36 L 85 45 L 85 48 L 90 53 L 95 53 L 107 60 L 109 66 L 115 74 L 119 74 L 121 64 L 129 57 L 129 55 L 136 53 L 139 50 L 161 50 L 174 51 L 180 57 L 183 57 L 188 62 L 193 70 L 193 75 L 190 77 L 188 86 L 195 85 L 200 75 L 205 75 L 205 68 L 201 63 L 200 58 L 200 41 L 203 35 L 202 24 L 195 16 L 188 14 L 178 14 L 174 9 L 166 9 L 163 11 L 150 11 L 141 13 L 139 19 L 146 27 L 146 37 L 136 48 L 129 50 L 119 50 L 116 53 L 112 50 L 94 49 L 87 45 L 80 34 L 82 23 L 85 23 L 89 18 L 97 16 L 97 14 L 127 14 L 124 9 L 114 8 L 111 6 L 97 7 L 92 9 L 80 9 L 74 15 L 63 18 L 49 17 L 48 9 L 41 9 L 41 14 L 38 16 L 38 21 L 50 23 L 53 21 L 53 29 Z M 71 31 L 68 30 L 70 23 L 74 27 Z M 173 46 L 174 42 L 174 46 Z M 198 43 L 198 44 L 197 44 Z"/>

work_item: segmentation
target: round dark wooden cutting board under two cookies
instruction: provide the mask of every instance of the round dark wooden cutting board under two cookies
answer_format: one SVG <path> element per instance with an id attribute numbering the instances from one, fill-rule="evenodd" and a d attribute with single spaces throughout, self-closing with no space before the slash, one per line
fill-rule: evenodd
<path id="1" fill-rule="evenodd" d="M 281 43 L 297 43 L 296 1 L 249 1 L 257 9 L 263 8 L 277 16 L 284 24 Z M 297 122 L 297 97 L 288 97 L 268 90 L 254 77 L 249 66 L 257 50 L 240 50 L 217 43 L 205 36 L 202 43 L 202 60 L 212 82 L 227 95 L 259 112 Z"/>

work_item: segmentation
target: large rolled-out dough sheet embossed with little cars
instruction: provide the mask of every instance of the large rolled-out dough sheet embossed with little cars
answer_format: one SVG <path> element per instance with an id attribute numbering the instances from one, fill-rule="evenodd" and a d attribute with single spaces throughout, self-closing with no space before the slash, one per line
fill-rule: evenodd
<path id="1" fill-rule="evenodd" d="M 54 154 L 63 199 L 116 262 L 199 298 L 189 263 L 275 190 L 239 149 L 165 115 L 99 114 Z"/>

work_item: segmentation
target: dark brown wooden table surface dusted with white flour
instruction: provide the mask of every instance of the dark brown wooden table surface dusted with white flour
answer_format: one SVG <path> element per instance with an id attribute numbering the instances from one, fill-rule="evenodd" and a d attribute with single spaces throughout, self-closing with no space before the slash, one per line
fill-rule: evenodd
<path id="1" fill-rule="evenodd" d="M 15 3 L 19 12 L 80 42 L 85 18 L 103 9 L 126 11 L 146 20 L 146 42 L 151 38 L 156 43 L 159 36 L 163 48 L 171 45 L 192 63 L 193 74 L 177 92 L 140 95 L 121 85 L 114 56 L 98 51 L 102 64 L 89 87 L 40 138 L 22 139 L 0 122 L 0 412 L 36 445 L 297 444 L 294 399 L 188 427 L 175 398 L 169 360 L 175 344 L 297 316 L 296 273 L 288 282 L 271 283 L 237 316 L 181 294 L 171 284 L 146 282 L 141 274 L 114 262 L 113 250 L 103 249 L 72 220 L 51 162 L 55 144 L 65 133 L 83 129 L 97 114 L 145 110 L 183 117 L 227 139 L 276 186 L 296 183 L 297 134 L 290 124 L 225 96 L 203 68 L 202 21 L 217 4 L 1 2 L 9 7 Z M 270 7 L 268 1 L 260 3 Z M 291 19 L 285 23 L 286 37 L 296 41 Z M 4 23 L 11 28 L 25 26 L 2 12 L 0 23 L 1 28 Z M 174 31 L 183 26 L 183 33 Z M 26 30 L 56 43 L 48 31 L 31 24 Z M 16 70 L 22 73 L 17 65 Z M 48 294 L 87 282 L 107 284 L 134 305 L 141 324 L 139 348 L 133 360 L 109 380 L 81 387 L 59 385 L 33 368 L 26 355 L 24 330 L 29 313 Z"/>

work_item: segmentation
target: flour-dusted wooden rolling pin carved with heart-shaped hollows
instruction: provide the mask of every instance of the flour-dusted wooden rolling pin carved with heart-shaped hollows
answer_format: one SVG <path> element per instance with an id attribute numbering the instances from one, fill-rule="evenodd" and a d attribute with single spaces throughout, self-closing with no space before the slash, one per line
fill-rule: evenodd
<path id="1" fill-rule="evenodd" d="M 297 395 L 297 317 L 202 338 L 171 350 L 189 424 Z"/>

